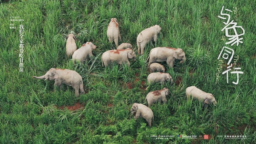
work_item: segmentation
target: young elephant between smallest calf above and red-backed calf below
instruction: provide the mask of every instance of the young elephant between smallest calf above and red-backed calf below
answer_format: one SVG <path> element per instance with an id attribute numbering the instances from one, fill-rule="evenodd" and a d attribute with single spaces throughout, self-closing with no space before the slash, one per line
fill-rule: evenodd
<path id="1" fill-rule="evenodd" d="M 148 81 L 148 87 L 149 88 L 151 83 L 161 83 L 162 85 L 165 84 L 165 81 L 170 81 L 171 85 L 173 84 L 172 76 L 169 73 L 163 73 L 163 72 L 154 72 L 150 73 L 147 78 Z"/>

